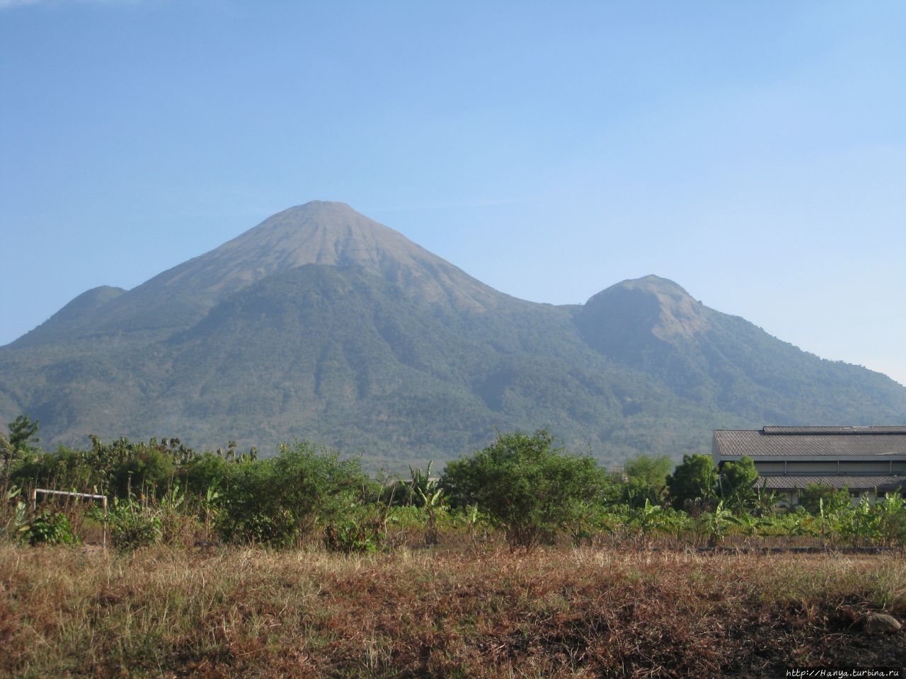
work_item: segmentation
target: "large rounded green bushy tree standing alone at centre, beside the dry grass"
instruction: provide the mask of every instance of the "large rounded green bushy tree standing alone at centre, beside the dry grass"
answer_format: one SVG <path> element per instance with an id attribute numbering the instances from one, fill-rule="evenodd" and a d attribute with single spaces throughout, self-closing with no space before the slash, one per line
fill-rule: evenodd
<path id="1" fill-rule="evenodd" d="M 601 501 L 606 477 L 593 458 L 566 454 L 541 430 L 497 435 L 484 450 L 448 463 L 440 483 L 452 502 L 486 512 L 513 548 L 531 549 L 581 521 Z"/>

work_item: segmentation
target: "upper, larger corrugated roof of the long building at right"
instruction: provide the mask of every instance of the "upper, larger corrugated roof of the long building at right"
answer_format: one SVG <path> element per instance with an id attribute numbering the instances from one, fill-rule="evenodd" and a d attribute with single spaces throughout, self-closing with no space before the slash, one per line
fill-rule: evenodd
<path id="1" fill-rule="evenodd" d="M 868 427 L 863 427 L 868 428 Z M 717 429 L 714 440 L 721 456 L 758 455 L 906 455 L 906 427 L 874 427 L 898 431 L 852 435 L 829 431 L 830 427 L 765 427 L 765 429 Z M 766 432 L 773 429 L 773 432 Z M 795 433 L 776 431 L 796 429 Z M 818 429 L 819 431 L 814 431 Z M 902 432 L 899 430 L 902 429 Z M 808 430 L 808 431 L 806 431 Z"/>

